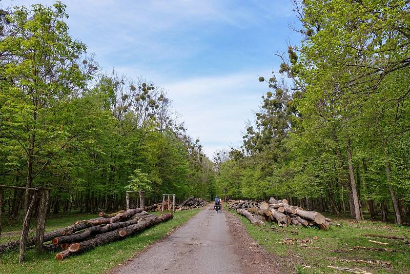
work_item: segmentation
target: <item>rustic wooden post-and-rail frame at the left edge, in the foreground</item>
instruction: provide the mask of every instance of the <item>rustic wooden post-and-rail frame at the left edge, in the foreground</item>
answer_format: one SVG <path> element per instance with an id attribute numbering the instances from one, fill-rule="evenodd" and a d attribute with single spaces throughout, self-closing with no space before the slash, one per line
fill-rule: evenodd
<path id="1" fill-rule="evenodd" d="M 0 185 L 0 236 L 2 232 L 2 206 L 3 206 L 3 188 L 12 188 L 12 189 L 25 189 L 28 195 L 31 195 L 31 201 L 28 205 L 27 211 L 25 212 L 25 216 L 23 219 L 23 229 L 22 235 L 20 236 L 20 243 L 19 243 L 19 257 L 18 262 L 22 263 L 24 258 L 26 257 L 26 245 L 27 245 L 27 237 L 30 230 L 30 222 L 35 212 L 35 208 L 37 208 L 37 222 L 36 222 L 36 232 L 35 232 L 35 247 L 37 249 L 38 254 L 40 255 L 43 251 L 43 239 L 44 239 L 44 230 L 46 226 L 46 216 L 47 216 L 47 209 L 48 203 L 50 200 L 50 189 L 44 187 L 36 187 L 36 188 L 29 188 L 29 187 L 21 187 L 21 186 L 6 186 Z"/>

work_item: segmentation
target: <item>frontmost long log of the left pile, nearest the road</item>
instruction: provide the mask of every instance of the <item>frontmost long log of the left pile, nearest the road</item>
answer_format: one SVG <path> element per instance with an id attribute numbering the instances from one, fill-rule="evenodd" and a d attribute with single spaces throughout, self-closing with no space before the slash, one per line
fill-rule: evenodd
<path id="1" fill-rule="evenodd" d="M 63 260 L 64 258 L 67 258 L 68 256 L 70 256 L 72 253 L 80 253 L 80 252 L 92 249 L 98 245 L 104 245 L 107 243 L 120 240 L 124 237 L 130 236 L 131 234 L 145 230 L 153 225 L 156 225 L 160 222 L 170 220 L 172 218 L 173 218 L 173 214 L 167 213 L 159 217 L 156 217 L 155 219 L 145 219 L 139 223 L 136 223 L 136 224 L 124 227 L 124 228 L 119 228 L 119 229 L 116 229 L 116 230 L 113 230 L 107 233 L 98 234 L 94 239 L 80 242 L 80 243 L 71 244 L 70 247 L 67 249 L 68 254 L 63 253 L 65 251 L 60 252 L 56 255 L 55 259 Z"/>

